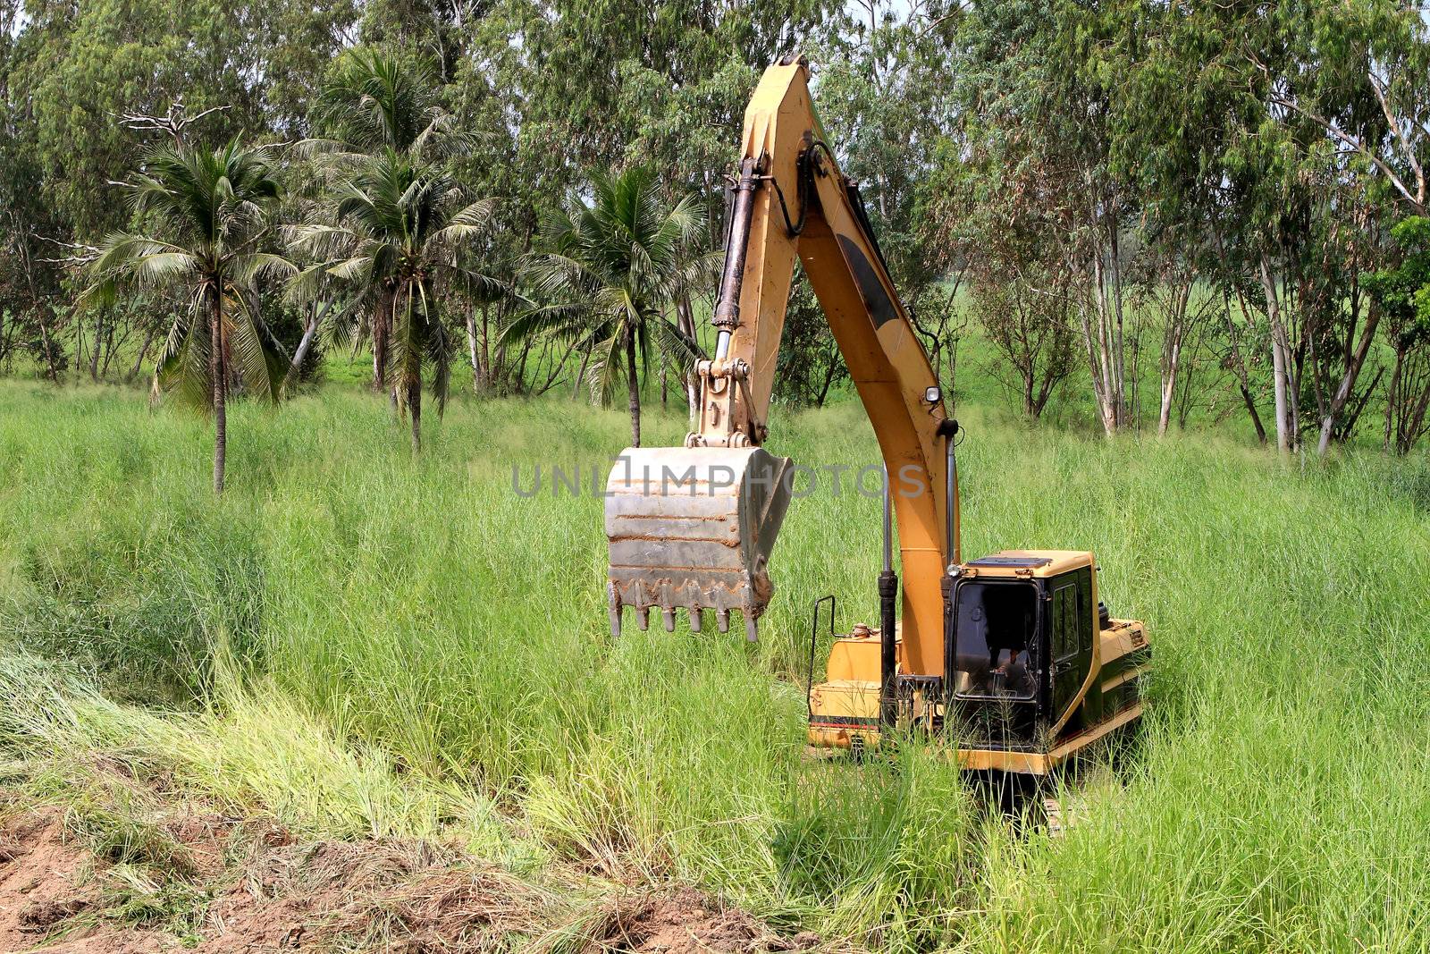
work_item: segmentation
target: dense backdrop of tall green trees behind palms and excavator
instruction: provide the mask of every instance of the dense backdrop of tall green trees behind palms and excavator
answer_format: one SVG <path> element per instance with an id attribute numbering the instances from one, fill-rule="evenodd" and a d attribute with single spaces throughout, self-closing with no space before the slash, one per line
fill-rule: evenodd
<path id="1" fill-rule="evenodd" d="M 571 303 L 532 272 L 551 222 L 641 167 L 665 207 L 705 213 L 681 267 L 718 249 L 746 97 L 798 49 L 951 393 L 968 339 L 1025 413 L 1085 412 L 1107 433 L 1234 415 L 1286 451 L 1360 435 L 1404 452 L 1430 428 L 1430 340 L 1374 277 L 1414 255 L 1394 229 L 1427 205 L 1430 27 L 1401 0 L 10 0 L 0 26 L 0 368 L 17 373 L 149 366 L 182 303 L 76 305 L 103 236 L 146 230 L 113 183 L 156 142 L 240 136 L 277 150 L 289 237 L 353 227 L 339 193 L 383 150 L 489 200 L 446 273 L 412 286 L 430 297 L 402 330 L 428 358 L 396 382 L 400 409 L 413 375 L 445 382 L 463 330 L 479 393 L 609 395 L 589 336 L 526 320 Z M 396 299 L 369 282 L 358 306 L 350 276 L 322 275 L 256 292 L 275 340 L 302 349 L 289 382 L 347 345 L 383 352 L 390 386 Z M 649 309 L 698 345 L 709 295 Z M 789 330 L 776 395 L 822 403 L 842 362 L 801 287 Z M 593 366 L 605 378 L 582 380 Z M 684 372 L 642 362 L 641 383 L 665 395 Z"/>

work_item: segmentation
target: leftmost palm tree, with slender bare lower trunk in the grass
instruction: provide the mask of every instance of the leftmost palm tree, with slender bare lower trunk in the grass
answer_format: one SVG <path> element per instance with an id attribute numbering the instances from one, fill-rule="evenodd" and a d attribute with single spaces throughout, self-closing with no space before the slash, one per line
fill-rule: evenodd
<path id="1" fill-rule="evenodd" d="M 293 272 L 265 247 L 279 200 L 269 152 L 237 139 L 213 150 L 164 146 L 126 189 L 136 220 L 149 227 L 104 240 L 86 297 L 112 297 L 126 280 L 180 297 L 154 383 L 212 410 L 213 491 L 222 493 L 229 389 L 240 383 L 276 399 L 282 380 L 276 342 L 253 312 L 257 280 Z"/>

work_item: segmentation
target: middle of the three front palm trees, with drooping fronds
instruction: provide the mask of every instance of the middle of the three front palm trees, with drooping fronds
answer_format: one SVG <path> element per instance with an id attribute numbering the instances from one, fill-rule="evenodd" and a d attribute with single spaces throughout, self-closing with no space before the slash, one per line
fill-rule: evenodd
<path id="1" fill-rule="evenodd" d="M 307 300 L 335 282 L 350 292 L 346 306 L 330 312 L 329 333 L 353 348 L 372 345 L 378 388 L 393 383 L 418 451 L 423 365 L 432 363 L 440 415 L 455 346 L 439 286 L 466 275 L 459 255 L 482 237 L 495 202 L 470 202 L 449 176 L 393 149 L 356 166 L 335 199 L 336 225 L 289 230 L 295 250 L 317 257 L 293 277 L 289 295 Z"/>

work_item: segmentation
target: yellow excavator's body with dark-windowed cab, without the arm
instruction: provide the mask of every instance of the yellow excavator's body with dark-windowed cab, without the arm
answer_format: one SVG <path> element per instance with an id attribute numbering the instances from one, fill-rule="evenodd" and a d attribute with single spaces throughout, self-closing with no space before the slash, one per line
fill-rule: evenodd
<path id="1" fill-rule="evenodd" d="M 882 632 L 855 626 L 811 685 L 809 744 L 867 751 L 917 729 L 952 742 L 965 768 L 1054 771 L 1141 715 L 1147 634 L 1107 614 L 1095 576 L 1085 551 L 1004 551 L 952 568 L 950 675 L 911 672 L 898 625 L 894 669 L 881 668 Z"/>

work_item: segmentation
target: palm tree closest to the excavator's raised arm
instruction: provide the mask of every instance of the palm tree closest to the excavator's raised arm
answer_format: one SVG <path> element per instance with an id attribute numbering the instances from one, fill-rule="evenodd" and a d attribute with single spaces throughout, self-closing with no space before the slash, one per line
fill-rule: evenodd
<path id="1" fill-rule="evenodd" d="M 551 303 L 505 335 L 548 333 L 591 349 L 592 390 L 609 400 L 625 380 L 631 442 L 641 446 L 639 368 L 649 368 L 652 355 L 682 366 L 698 355 L 665 313 L 712 273 L 715 257 L 696 252 L 705 227 L 699 205 L 665 202 L 651 170 L 598 174 L 589 195 L 566 199 L 543 227 L 545 250 L 531 257 L 531 279 Z"/>

